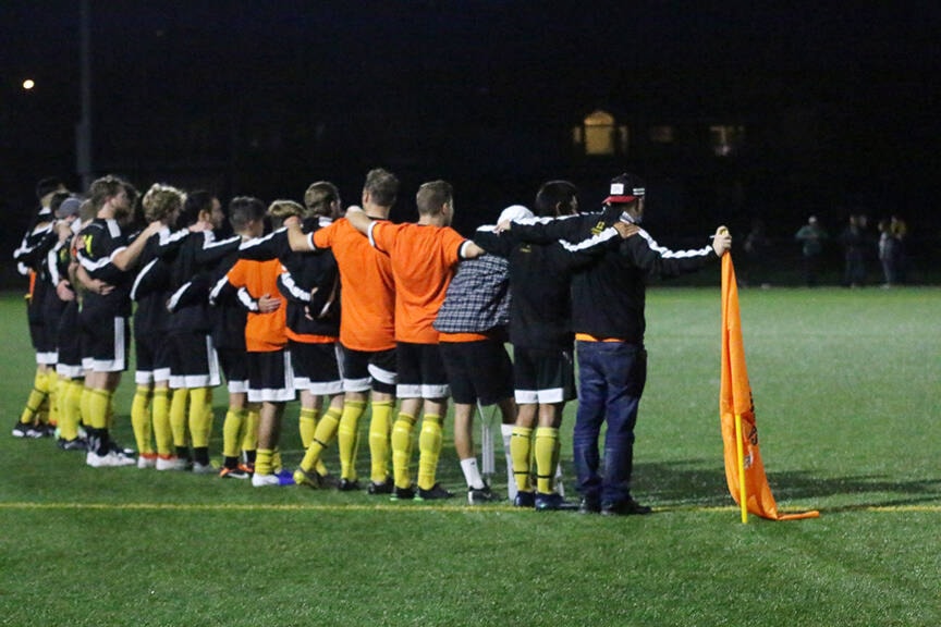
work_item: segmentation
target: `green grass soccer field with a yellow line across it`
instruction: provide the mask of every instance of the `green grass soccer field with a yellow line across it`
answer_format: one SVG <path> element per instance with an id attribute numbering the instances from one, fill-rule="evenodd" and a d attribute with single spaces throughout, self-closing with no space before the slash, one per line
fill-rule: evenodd
<path id="1" fill-rule="evenodd" d="M 740 521 L 718 286 L 648 293 L 634 492 L 655 514 L 613 519 L 88 468 L 10 435 L 35 366 L 22 299 L 3 295 L 0 625 L 941 624 L 941 290 L 744 290 L 741 303 L 769 482 L 782 511 L 819 519 Z M 124 443 L 132 393 L 129 372 Z M 219 389 L 217 455 L 223 403 Z M 570 494 L 573 417 L 574 404 Z M 440 476 L 460 496 L 445 437 Z M 297 442 L 291 405 L 291 466 Z M 364 444 L 360 474 L 367 457 Z M 503 478 L 498 445 L 505 493 Z"/>

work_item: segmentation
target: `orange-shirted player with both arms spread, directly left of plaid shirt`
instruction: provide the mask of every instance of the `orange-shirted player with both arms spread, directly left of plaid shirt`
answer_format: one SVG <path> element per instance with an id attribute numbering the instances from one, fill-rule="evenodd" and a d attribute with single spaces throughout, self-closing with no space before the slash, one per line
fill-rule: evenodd
<path id="1" fill-rule="evenodd" d="M 454 198 L 450 183 L 423 184 L 416 204 L 417 223 L 372 221 L 358 207 L 351 207 L 346 219 L 368 236 L 374 248 L 391 258 L 395 279 L 396 394 L 401 406 L 392 428 L 393 495 L 400 500 L 449 499 L 453 494 L 436 480 L 450 392 L 432 323 L 454 267 L 461 259 L 479 257 L 484 249 L 451 229 Z M 416 494 L 410 468 L 412 431 L 423 409 Z"/>

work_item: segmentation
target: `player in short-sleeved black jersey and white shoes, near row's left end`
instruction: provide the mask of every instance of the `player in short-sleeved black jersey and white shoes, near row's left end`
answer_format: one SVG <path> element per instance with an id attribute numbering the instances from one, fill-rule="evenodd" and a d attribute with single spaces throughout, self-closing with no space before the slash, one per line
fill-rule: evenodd
<path id="1" fill-rule="evenodd" d="M 78 261 L 88 276 L 107 282 L 113 290 L 87 292 L 78 316 L 84 358 L 88 359 L 82 395 L 82 416 L 88 432 L 86 464 L 93 468 L 129 466 L 135 460 L 111 441 L 109 423 L 114 392 L 121 373 L 127 369 L 133 267 L 147 238 L 161 225 L 151 222 L 129 242 L 124 230 L 136 192 L 117 176 L 91 183 L 89 196 L 96 218 L 80 234 Z"/>

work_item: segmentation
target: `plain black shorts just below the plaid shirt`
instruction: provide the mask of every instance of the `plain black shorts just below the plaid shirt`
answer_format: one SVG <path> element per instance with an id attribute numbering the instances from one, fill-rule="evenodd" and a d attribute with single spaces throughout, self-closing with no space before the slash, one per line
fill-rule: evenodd
<path id="1" fill-rule="evenodd" d="M 503 342 L 488 339 L 438 346 L 454 403 L 493 405 L 513 396 L 513 362 Z"/>

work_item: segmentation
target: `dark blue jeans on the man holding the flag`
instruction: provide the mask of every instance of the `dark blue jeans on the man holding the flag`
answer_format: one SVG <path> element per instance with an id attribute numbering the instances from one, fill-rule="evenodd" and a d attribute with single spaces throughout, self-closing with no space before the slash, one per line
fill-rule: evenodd
<path id="1" fill-rule="evenodd" d="M 634 426 L 647 382 L 647 352 L 623 342 L 577 342 L 578 411 L 573 446 L 578 491 L 586 500 L 620 503 L 631 497 Z M 599 475 L 598 439 L 604 435 Z"/>

